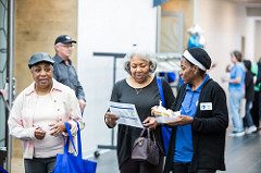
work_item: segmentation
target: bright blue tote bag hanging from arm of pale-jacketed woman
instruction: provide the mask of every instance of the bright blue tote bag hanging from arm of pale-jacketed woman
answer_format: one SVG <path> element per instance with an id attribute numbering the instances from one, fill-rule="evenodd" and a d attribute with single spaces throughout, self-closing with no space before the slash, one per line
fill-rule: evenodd
<path id="1" fill-rule="evenodd" d="M 70 131 L 70 126 L 65 123 L 66 132 L 69 135 L 69 139 L 64 146 L 62 155 L 57 156 L 57 163 L 54 166 L 53 173 L 96 173 L 97 163 L 90 160 L 83 159 L 82 153 L 82 140 L 80 140 L 80 129 L 77 123 L 77 143 L 78 143 L 78 152 L 76 151 L 73 136 Z M 77 156 L 69 152 L 69 144 L 70 141 L 73 145 L 74 150 L 76 151 Z"/>

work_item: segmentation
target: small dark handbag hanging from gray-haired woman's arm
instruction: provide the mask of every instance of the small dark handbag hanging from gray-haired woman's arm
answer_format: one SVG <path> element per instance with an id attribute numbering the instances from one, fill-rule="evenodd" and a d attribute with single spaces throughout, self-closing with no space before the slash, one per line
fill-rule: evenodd
<path id="1" fill-rule="evenodd" d="M 134 143 L 132 159 L 157 165 L 159 164 L 159 147 L 154 134 L 150 129 L 144 128 Z"/>

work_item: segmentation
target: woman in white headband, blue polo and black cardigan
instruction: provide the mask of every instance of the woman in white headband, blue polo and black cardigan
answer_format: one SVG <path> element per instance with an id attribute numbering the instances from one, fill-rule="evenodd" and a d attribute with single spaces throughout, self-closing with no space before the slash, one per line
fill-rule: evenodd
<path id="1" fill-rule="evenodd" d="M 166 123 L 173 129 L 164 173 L 225 171 L 226 96 L 207 74 L 210 67 L 211 59 L 203 49 L 184 51 L 179 72 L 184 84 L 174 106 L 181 115 Z"/>

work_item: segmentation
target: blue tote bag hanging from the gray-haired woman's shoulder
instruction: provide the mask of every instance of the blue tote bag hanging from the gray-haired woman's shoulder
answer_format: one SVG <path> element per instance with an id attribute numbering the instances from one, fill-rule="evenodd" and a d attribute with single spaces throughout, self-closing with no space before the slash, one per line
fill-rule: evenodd
<path id="1" fill-rule="evenodd" d="M 161 78 L 157 78 L 157 84 L 158 84 L 162 106 L 165 107 L 165 98 L 164 98 L 164 92 L 163 92 L 163 89 L 162 89 Z M 164 149 L 164 155 L 165 156 L 167 155 L 171 134 L 172 134 L 172 127 L 167 127 L 166 125 L 161 126 L 161 135 L 162 135 L 162 138 L 163 138 L 163 149 Z"/>

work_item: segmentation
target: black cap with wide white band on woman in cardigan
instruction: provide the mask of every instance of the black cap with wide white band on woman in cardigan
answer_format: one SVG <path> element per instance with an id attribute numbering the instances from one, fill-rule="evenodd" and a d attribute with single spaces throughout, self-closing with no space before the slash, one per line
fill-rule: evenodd
<path id="1" fill-rule="evenodd" d="M 187 49 L 183 57 L 202 71 L 207 71 L 211 66 L 211 58 L 202 48 Z"/>

